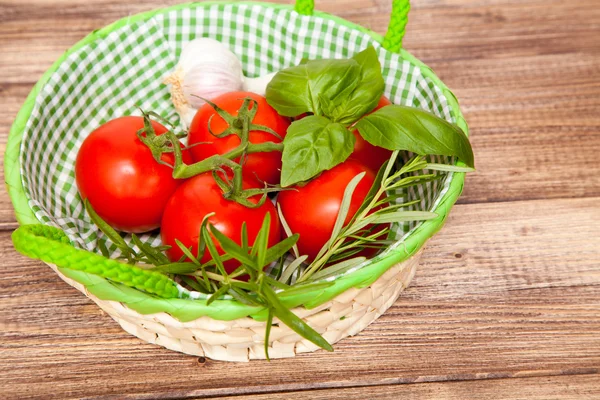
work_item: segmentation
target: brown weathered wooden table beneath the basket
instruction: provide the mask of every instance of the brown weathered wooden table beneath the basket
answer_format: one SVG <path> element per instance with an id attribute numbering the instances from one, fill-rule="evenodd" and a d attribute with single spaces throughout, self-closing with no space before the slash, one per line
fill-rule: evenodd
<path id="1" fill-rule="evenodd" d="M 0 2 L 2 153 L 63 51 L 167 3 Z M 317 3 L 383 33 L 391 2 Z M 600 398 L 598 0 L 414 0 L 405 47 L 460 99 L 478 172 L 383 317 L 333 354 L 231 364 L 167 351 L 15 253 L 1 193 L 0 397 Z"/>

